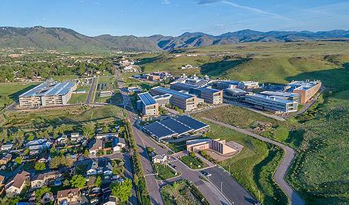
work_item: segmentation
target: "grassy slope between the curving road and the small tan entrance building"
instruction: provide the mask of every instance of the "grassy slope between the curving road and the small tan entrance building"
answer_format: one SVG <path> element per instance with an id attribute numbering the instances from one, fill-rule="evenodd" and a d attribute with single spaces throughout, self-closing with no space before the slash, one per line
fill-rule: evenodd
<path id="1" fill-rule="evenodd" d="M 199 119 L 210 126 L 210 131 L 205 133 L 204 137 L 235 141 L 244 146 L 240 154 L 219 163 L 227 170 L 230 165 L 231 175 L 237 182 L 256 198 L 260 191 L 262 204 L 287 204 L 287 196 L 273 180 L 276 167 L 282 159 L 283 150 L 248 135 Z"/>

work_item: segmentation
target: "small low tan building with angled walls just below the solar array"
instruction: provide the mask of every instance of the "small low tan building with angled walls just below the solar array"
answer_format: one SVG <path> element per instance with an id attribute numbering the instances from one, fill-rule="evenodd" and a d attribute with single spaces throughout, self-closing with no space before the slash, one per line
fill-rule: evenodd
<path id="1" fill-rule="evenodd" d="M 225 144 L 225 139 L 193 139 L 186 141 L 187 152 L 197 152 L 199 150 L 214 150 L 220 154 L 236 152 L 235 149 Z"/>

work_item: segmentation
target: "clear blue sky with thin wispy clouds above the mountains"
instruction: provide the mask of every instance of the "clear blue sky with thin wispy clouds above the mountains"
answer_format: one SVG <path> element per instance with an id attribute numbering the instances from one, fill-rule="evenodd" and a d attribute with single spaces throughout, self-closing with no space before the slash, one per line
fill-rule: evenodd
<path id="1" fill-rule="evenodd" d="M 67 27 L 88 36 L 179 36 L 185 31 L 349 29 L 341 0 L 2 0 L 0 26 Z"/>

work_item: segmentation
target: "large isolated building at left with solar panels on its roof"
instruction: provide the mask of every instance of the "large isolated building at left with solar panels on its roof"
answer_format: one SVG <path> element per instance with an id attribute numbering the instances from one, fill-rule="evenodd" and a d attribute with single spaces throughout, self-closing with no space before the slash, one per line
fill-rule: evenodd
<path id="1" fill-rule="evenodd" d="M 66 105 L 77 83 L 42 83 L 19 96 L 20 107 Z"/>

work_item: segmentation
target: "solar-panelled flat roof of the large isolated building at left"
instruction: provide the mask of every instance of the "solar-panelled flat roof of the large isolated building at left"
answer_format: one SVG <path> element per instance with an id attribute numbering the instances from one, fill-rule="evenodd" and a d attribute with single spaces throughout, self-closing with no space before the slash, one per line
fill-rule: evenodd
<path id="1" fill-rule="evenodd" d="M 19 97 L 27 96 L 52 96 L 52 95 L 64 95 L 66 94 L 75 83 L 41 83 L 40 85 L 28 90 L 27 92 L 21 94 Z"/>

